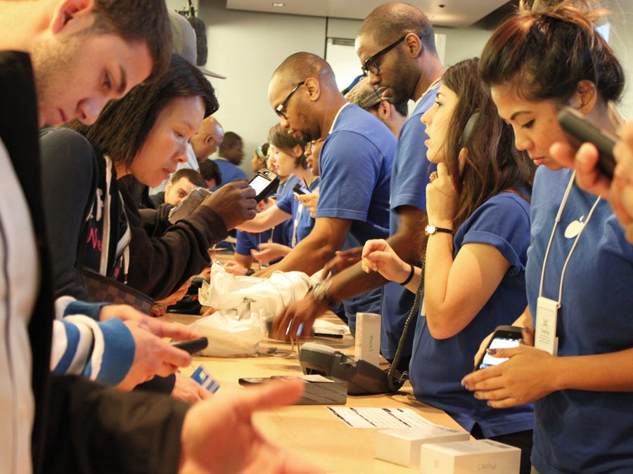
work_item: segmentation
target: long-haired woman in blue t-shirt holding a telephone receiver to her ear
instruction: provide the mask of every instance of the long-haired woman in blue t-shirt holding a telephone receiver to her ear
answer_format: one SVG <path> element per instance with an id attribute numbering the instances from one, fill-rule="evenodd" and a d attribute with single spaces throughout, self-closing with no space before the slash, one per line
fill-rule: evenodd
<path id="1" fill-rule="evenodd" d="M 461 386 L 481 336 L 525 309 L 534 166 L 516 150 L 478 77 L 478 60 L 449 67 L 435 105 L 422 116 L 427 157 L 437 163 L 426 187 L 428 225 L 422 312 L 409 380 L 418 400 L 440 408 L 476 438 L 520 447 L 530 472 L 532 406 L 496 411 Z M 422 270 L 384 240 L 366 242 L 363 266 L 416 291 Z"/>

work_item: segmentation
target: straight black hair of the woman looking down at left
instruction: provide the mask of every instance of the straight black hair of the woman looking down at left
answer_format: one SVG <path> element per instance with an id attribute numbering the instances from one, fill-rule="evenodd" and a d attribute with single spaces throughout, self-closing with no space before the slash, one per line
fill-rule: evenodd
<path id="1" fill-rule="evenodd" d="M 69 126 L 82 133 L 99 154 L 109 154 L 115 163 L 129 167 L 160 111 L 174 98 L 190 96 L 203 98 L 205 117 L 219 107 L 202 72 L 174 54 L 169 70 L 157 81 L 136 86 L 124 98 L 108 103 L 91 126 L 78 121 Z"/>

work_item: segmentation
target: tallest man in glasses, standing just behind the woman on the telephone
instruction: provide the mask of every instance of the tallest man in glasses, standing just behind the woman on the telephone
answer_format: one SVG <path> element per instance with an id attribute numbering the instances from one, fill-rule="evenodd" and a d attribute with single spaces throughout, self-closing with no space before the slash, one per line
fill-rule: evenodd
<path id="1" fill-rule="evenodd" d="M 389 244 L 405 261 L 418 260 L 423 234 L 421 222 L 426 217 L 426 185 L 434 168 L 426 159 L 424 140 L 427 136 L 420 117 L 435 103 L 438 81 L 444 68 L 435 50 L 433 26 L 418 8 L 393 2 L 378 6 L 359 29 L 356 51 L 369 84 L 392 103 L 415 100 L 413 113 L 402 126 L 391 177 Z M 384 285 L 386 280 L 372 272 L 362 272 L 358 262 L 361 249 L 353 249 L 328 263 L 326 269 L 338 270 L 330 280 L 332 301 L 341 301 L 354 294 Z M 404 321 L 413 306 L 414 294 L 395 282 L 383 287 L 381 301 L 381 353 L 395 357 Z M 290 305 L 286 312 L 295 320 L 314 321 L 327 308 L 305 298 Z M 413 344 L 411 322 L 402 350 L 399 369 L 408 368 Z"/>

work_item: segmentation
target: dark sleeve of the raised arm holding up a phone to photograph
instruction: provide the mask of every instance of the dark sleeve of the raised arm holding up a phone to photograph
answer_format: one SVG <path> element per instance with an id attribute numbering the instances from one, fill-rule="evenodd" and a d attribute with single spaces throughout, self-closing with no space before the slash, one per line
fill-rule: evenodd
<path id="1" fill-rule="evenodd" d="M 122 196 L 132 232 L 127 284 L 156 300 L 169 296 L 186 279 L 207 267 L 207 249 L 228 233 L 215 211 L 198 206 L 161 237 L 150 237 L 140 227 L 141 216 L 134 197 L 123 194 L 123 190 Z"/>

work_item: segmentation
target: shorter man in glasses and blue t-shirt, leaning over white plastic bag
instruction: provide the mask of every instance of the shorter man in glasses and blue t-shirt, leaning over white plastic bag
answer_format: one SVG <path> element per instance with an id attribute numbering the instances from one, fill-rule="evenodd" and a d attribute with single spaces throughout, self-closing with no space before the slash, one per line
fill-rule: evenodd
<path id="1" fill-rule="evenodd" d="M 263 276 L 272 270 L 310 274 L 322 268 L 335 251 L 388 235 L 389 183 L 396 145 L 390 130 L 373 115 L 347 103 L 331 67 L 313 54 L 296 53 L 282 62 L 270 81 L 268 96 L 283 129 L 306 141 L 324 138 L 324 142 L 314 228 Z M 319 284 L 310 293 L 326 307 L 330 303 L 327 284 Z M 353 331 L 357 312 L 378 311 L 380 293 L 348 299 L 344 305 Z M 294 335 L 297 329 L 290 324 L 286 334 Z"/>

